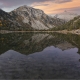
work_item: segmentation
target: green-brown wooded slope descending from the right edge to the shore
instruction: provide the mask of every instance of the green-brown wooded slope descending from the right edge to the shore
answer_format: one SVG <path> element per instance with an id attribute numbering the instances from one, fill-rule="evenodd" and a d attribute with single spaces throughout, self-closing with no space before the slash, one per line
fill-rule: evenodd
<path id="1" fill-rule="evenodd" d="M 52 30 L 77 30 L 80 29 L 80 16 L 68 21 L 61 27 L 55 27 Z"/>

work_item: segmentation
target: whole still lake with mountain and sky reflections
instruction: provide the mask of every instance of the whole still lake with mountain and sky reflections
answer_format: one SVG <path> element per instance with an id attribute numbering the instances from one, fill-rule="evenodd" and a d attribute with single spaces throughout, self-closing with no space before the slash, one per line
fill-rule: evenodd
<path id="1" fill-rule="evenodd" d="M 0 79 L 80 79 L 80 36 L 0 34 Z"/>

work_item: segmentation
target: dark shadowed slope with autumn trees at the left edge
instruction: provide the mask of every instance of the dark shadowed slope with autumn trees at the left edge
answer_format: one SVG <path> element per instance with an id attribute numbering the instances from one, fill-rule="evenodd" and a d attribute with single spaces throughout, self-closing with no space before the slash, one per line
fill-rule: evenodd
<path id="1" fill-rule="evenodd" d="M 15 30 L 20 27 L 11 15 L 0 9 L 0 29 Z"/>

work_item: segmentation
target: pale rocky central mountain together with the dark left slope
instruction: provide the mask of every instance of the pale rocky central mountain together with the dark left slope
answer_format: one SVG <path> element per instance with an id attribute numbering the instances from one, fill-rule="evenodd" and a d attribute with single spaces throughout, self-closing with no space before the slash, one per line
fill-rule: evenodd
<path id="1" fill-rule="evenodd" d="M 48 30 L 64 24 L 64 20 L 52 18 L 42 10 L 21 6 L 9 13 L 0 9 L 0 29 Z"/>

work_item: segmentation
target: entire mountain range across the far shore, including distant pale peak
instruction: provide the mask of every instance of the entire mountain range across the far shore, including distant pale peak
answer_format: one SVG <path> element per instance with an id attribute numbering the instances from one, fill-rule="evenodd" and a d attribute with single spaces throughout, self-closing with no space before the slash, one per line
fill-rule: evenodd
<path id="1" fill-rule="evenodd" d="M 0 9 L 0 30 L 79 29 L 80 16 L 68 12 L 64 12 L 64 14 L 61 15 L 64 15 L 65 19 L 60 19 L 60 16 L 57 15 L 51 17 L 45 14 L 44 11 L 27 5 L 20 6 L 9 13 Z"/>

